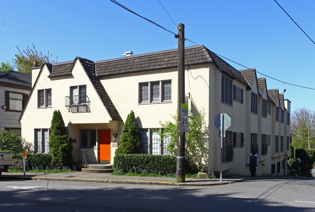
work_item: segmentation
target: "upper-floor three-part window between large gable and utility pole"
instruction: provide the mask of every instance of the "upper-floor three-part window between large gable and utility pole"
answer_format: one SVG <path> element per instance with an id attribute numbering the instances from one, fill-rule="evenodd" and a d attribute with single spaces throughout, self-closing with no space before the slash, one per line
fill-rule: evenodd
<path id="1" fill-rule="evenodd" d="M 171 102 L 172 82 L 170 80 L 139 83 L 139 103 Z"/>

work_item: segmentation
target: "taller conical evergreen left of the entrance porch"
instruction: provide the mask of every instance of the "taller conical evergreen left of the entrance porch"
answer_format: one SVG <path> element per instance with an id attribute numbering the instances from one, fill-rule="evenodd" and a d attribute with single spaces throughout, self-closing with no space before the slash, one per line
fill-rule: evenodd
<path id="1" fill-rule="evenodd" d="M 50 130 L 49 151 L 52 155 L 51 166 L 61 168 L 72 165 L 72 139 L 66 134 L 66 126 L 59 110 L 54 111 Z"/>

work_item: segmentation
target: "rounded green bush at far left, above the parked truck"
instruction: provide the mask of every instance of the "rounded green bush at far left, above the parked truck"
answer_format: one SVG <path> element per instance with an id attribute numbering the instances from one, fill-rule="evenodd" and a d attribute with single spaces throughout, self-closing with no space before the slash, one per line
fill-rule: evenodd
<path id="1" fill-rule="evenodd" d="M 0 152 L 21 153 L 24 139 L 7 130 L 0 129 Z"/>

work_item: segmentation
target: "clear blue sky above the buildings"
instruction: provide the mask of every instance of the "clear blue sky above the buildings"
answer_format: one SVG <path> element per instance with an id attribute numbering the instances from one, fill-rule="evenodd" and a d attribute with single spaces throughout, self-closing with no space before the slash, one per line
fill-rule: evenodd
<path id="1" fill-rule="evenodd" d="M 243 66 L 281 81 L 315 88 L 315 44 L 273 0 L 117 0 L 127 8 Z M 315 41 L 315 1 L 278 0 L 278 3 Z M 109 0 L 5 1 L 0 0 L 0 62 L 12 63 L 14 54 L 35 45 L 58 62 L 76 56 L 98 61 L 122 57 L 126 51 L 144 54 L 177 48 L 174 35 L 129 13 Z M 185 46 L 194 43 L 186 41 Z M 226 60 L 227 61 L 227 60 Z M 245 69 L 229 62 L 236 69 Z M 258 74 L 258 77 L 263 77 Z M 284 83 L 267 77 L 268 89 Z M 315 90 L 286 84 L 284 98 L 291 112 L 314 110 Z"/>

